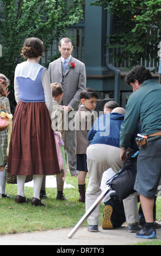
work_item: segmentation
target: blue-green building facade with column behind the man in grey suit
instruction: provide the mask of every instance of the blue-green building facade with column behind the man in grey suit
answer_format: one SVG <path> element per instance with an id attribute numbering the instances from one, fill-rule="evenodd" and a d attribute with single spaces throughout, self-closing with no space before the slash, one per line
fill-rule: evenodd
<path id="1" fill-rule="evenodd" d="M 73 57 L 85 63 L 86 87 L 93 88 L 98 92 L 98 111 L 102 110 L 102 106 L 108 100 L 115 100 L 125 107 L 128 96 L 132 93 L 131 87 L 124 81 L 127 74 L 126 64 L 121 66 L 119 63 L 115 63 L 112 58 L 113 50 L 108 50 L 106 47 L 108 35 L 114 26 L 113 17 L 103 7 L 89 6 L 90 2 L 91 0 L 85 1 L 84 21 L 67 29 L 65 36 L 74 41 Z M 0 8 L 0 18 L 1 10 Z M 0 48 L 0 54 L 1 51 Z M 41 64 L 48 63 L 48 59 L 57 53 L 59 53 L 58 41 L 54 41 L 42 58 Z M 158 76 L 156 76 L 156 80 L 158 80 Z"/>

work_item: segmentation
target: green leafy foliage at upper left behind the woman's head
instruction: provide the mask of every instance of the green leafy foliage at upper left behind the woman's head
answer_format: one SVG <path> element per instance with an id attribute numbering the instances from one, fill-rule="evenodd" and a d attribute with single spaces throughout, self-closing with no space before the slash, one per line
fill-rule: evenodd
<path id="1" fill-rule="evenodd" d="M 2 0 L 0 20 L 0 72 L 13 82 L 23 41 L 31 36 L 44 42 L 45 51 L 65 34 L 65 29 L 83 18 L 84 0 Z M 52 57 L 53 60 L 53 57 Z M 50 59 L 48 59 L 48 62 Z M 48 63 L 46 63 L 48 66 Z M 12 83 L 13 84 L 13 83 Z"/>

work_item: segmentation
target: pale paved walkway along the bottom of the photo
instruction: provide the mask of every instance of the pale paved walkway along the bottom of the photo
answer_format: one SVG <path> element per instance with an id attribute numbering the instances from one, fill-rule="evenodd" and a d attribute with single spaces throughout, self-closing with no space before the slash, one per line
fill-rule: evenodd
<path id="1" fill-rule="evenodd" d="M 67 235 L 72 229 L 54 229 L 49 231 L 35 231 L 23 234 L 10 234 L 0 236 L 0 245 L 132 245 L 138 242 L 148 241 L 138 239 L 135 233 L 129 233 L 128 227 L 121 227 L 114 230 L 103 230 L 91 233 L 86 227 L 81 227 L 77 233 L 69 239 Z M 157 240 L 161 241 L 161 229 L 157 229 Z M 71 248 L 75 248 L 74 246 Z"/>

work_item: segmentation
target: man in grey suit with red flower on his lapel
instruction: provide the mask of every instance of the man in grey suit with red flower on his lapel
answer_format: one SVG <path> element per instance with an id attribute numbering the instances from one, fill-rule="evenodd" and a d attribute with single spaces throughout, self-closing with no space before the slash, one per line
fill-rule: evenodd
<path id="1" fill-rule="evenodd" d="M 59 51 L 61 57 L 49 64 L 49 75 L 51 83 L 61 83 L 63 87 L 63 99 L 61 107 L 68 113 L 68 120 L 74 118 L 72 111 L 77 111 L 80 104 L 80 92 L 86 86 L 86 72 L 84 63 L 78 59 L 73 58 L 71 53 L 73 51 L 73 43 L 69 38 L 63 38 L 59 42 Z M 70 173 L 72 176 L 78 175 L 76 169 L 76 137 L 75 129 L 68 126 L 66 131 L 66 142 L 68 151 L 68 162 Z"/>

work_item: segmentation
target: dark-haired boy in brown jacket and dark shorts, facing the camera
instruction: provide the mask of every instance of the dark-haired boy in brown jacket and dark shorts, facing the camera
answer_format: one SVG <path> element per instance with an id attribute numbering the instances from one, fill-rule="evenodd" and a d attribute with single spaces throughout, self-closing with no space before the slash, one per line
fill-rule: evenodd
<path id="1" fill-rule="evenodd" d="M 98 95 L 93 89 L 84 89 L 80 93 L 80 101 L 82 105 L 79 107 L 75 115 L 77 170 L 79 170 L 79 202 L 83 203 L 85 203 L 85 178 L 86 173 L 88 172 L 86 162 L 86 148 L 89 145 L 89 141 L 87 136 L 91 126 L 96 120 L 95 115 L 92 114 L 91 111 L 95 109 L 97 99 Z"/>

